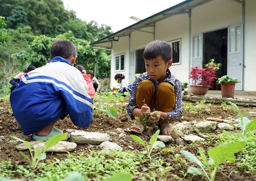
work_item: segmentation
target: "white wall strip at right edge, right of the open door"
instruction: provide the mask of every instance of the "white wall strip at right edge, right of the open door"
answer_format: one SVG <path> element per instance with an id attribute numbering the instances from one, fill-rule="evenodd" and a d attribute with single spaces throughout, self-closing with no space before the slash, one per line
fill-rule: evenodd
<path id="1" fill-rule="evenodd" d="M 245 4 L 245 68 L 244 90 L 256 91 L 256 0 L 246 0 Z"/>

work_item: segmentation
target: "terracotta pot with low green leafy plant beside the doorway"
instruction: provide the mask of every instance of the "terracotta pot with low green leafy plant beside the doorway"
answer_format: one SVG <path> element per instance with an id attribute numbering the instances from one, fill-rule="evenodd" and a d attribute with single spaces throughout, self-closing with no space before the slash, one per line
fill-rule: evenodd
<path id="1" fill-rule="evenodd" d="M 234 98 L 236 83 L 239 83 L 236 78 L 230 76 L 222 76 L 217 80 L 218 84 L 221 86 L 222 97 L 232 97 Z"/>

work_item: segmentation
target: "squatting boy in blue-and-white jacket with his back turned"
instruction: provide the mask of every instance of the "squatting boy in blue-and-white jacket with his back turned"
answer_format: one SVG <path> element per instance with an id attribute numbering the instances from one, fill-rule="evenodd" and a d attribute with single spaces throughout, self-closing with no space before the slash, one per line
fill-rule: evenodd
<path id="1" fill-rule="evenodd" d="M 50 48 L 49 63 L 21 78 L 10 103 L 24 135 L 48 140 L 62 133 L 53 125 L 68 114 L 74 125 L 90 125 L 93 102 L 81 72 L 73 67 L 76 57 L 72 42 L 57 40 Z"/>

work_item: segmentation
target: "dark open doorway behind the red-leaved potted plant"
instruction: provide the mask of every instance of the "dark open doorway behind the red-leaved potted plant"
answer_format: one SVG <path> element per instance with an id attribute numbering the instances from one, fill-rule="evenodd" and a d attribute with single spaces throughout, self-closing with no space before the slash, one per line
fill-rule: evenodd
<path id="1" fill-rule="evenodd" d="M 204 33 L 203 37 L 203 65 L 214 59 L 216 64 L 222 64 L 216 72 L 217 79 L 226 76 L 228 72 L 228 28 Z M 214 85 L 209 90 L 221 90 L 220 84 L 216 81 L 213 83 Z"/>

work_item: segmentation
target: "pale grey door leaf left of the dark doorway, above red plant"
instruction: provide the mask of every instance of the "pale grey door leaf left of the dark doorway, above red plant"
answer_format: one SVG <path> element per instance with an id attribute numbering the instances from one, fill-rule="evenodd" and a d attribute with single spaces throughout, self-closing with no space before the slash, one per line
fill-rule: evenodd
<path id="1" fill-rule="evenodd" d="M 203 34 L 195 35 L 192 39 L 192 68 L 203 67 Z"/>

